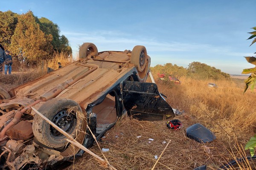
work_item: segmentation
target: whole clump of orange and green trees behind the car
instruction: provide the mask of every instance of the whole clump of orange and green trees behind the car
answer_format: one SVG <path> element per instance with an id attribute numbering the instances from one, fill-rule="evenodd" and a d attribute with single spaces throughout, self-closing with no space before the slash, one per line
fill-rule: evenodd
<path id="1" fill-rule="evenodd" d="M 19 66 L 35 66 L 42 60 L 49 61 L 54 54 L 64 53 L 72 57 L 72 49 L 57 24 L 45 17 L 38 18 L 32 11 L 16 14 L 0 11 L 0 44 L 10 51 Z"/>

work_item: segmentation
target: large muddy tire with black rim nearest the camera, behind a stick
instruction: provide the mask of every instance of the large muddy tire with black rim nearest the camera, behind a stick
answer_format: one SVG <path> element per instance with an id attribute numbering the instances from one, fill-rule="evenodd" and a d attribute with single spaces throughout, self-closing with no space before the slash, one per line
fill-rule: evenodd
<path id="1" fill-rule="evenodd" d="M 41 105 L 38 111 L 74 138 L 81 130 L 83 120 L 78 114 L 82 112 L 81 107 L 73 100 L 53 98 Z M 66 136 L 38 114 L 34 117 L 32 127 L 35 138 L 41 144 L 52 148 L 60 148 L 67 144 Z"/>

